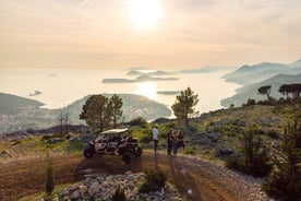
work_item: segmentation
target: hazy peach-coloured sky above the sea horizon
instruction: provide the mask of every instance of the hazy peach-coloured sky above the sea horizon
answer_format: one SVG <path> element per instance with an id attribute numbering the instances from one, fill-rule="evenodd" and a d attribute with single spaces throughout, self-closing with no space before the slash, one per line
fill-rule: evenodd
<path id="1" fill-rule="evenodd" d="M 300 0 L 150 1 L 0 0 L 0 69 L 186 69 L 301 58 Z"/>

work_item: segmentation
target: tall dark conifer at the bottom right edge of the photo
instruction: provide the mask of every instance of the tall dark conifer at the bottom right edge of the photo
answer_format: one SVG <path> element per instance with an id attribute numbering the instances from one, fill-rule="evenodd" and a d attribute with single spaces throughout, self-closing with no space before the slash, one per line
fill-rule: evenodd
<path id="1" fill-rule="evenodd" d="M 285 128 L 280 153 L 263 189 L 284 200 L 301 198 L 301 125 L 297 120 Z"/>

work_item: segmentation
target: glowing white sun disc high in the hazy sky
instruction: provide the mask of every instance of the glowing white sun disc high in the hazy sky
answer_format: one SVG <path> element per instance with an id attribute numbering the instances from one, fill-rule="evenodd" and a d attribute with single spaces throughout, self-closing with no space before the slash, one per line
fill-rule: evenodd
<path id="1" fill-rule="evenodd" d="M 140 27 L 146 28 L 155 24 L 162 13 L 157 0 L 131 0 L 131 20 Z"/>

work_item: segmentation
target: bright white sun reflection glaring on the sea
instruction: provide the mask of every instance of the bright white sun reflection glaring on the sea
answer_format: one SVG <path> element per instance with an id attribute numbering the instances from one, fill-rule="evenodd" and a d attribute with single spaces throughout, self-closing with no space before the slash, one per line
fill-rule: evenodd
<path id="1" fill-rule="evenodd" d="M 143 95 L 149 99 L 157 98 L 157 85 L 154 82 L 139 82 L 136 83 L 137 88 L 134 94 Z"/>

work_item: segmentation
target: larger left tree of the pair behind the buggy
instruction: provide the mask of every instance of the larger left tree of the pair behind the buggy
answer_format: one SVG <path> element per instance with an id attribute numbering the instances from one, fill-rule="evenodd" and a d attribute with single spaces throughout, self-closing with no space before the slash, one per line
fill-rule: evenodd
<path id="1" fill-rule="evenodd" d="M 104 128 L 108 128 L 111 122 L 109 98 L 103 95 L 89 96 L 83 105 L 80 119 L 84 119 L 94 130 L 103 132 Z"/>

